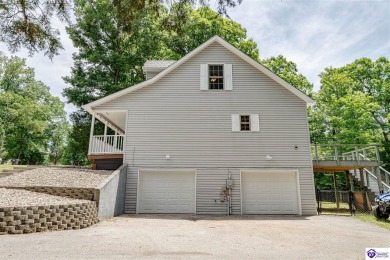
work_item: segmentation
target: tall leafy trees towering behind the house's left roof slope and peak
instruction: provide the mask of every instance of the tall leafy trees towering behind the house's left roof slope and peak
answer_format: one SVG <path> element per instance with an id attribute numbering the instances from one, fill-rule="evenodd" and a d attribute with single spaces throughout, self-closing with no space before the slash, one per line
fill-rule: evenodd
<path id="1" fill-rule="evenodd" d="M 148 59 L 179 59 L 192 51 L 203 40 L 216 33 L 230 37 L 233 44 L 256 58 L 256 43 L 246 39 L 246 31 L 239 24 L 204 7 L 193 10 L 186 6 L 190 19 L 180 26 L 167 26 L 178 15 L 176 8 L 144 10 L 132 17 L 131 28 L 122 31 L 117 13 L 112 10 L 112 0 L 102 0 L 90 5 L 86 0 L 76 2 L 76 24 L 67 28 L 75 47 L 74 66 L 64 80 L 70 86 L 64 90 L 68 101 L 81 107 L 96 99 L 142 82 L 145 77 L 142 65 Z M 208 24 L 210 19 L 212 22 Z M 176 30 L 176 29 L 177 30 Z M 188 38 L 181 40 L 179 33 L 185 31 Z M 203 38 L 201 37 L 203 36 Z M 188 39 L 197 39 L 195 44 L 184 48 Z M 71 145 L 76 154 L 87 154 L 90 116 L 79 110 L 71 116 Z M 80 125 L 84 124 L 84 125 Z M 96 128 L 98 130 L 98 127 Z M 81 132 L 82 131 L 82 132 Z M 83 139 L 83 140 L 82 140 Z M 86 141 L 84 141 L 86 140 Z"/>

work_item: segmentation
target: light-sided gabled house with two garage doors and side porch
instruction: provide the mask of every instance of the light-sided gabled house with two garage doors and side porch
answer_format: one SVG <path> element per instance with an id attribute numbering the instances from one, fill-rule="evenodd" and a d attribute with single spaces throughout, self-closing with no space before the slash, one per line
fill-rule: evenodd
<path id="1" fill-rule="evenodd" d="M 213 37 L 147 80 L 87 104 L 115 131 L 96 167 L 128 165 L 126 213 L 313 215 L 308 96 Z"/>

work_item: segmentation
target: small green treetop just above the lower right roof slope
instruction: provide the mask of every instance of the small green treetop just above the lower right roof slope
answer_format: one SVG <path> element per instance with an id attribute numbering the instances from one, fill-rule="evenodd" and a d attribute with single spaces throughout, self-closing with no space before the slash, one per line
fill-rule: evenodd
<path id="1" fill-rule="evenodd" d="M 309 97 L 313 97 L 313 84 L 298 72 L 297 64 L 282 55 L 261 60 L 260 63 Z"/>

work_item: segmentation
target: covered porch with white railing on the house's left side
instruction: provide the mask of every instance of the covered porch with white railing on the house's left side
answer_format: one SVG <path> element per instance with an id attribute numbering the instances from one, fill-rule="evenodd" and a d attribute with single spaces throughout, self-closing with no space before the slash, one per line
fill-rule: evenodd
<path id="1" fill-rule="evenodd" d="M 88 159 L 96 170 L 114 170 L 123 164 L 127 111 L 92 111 Z"/>

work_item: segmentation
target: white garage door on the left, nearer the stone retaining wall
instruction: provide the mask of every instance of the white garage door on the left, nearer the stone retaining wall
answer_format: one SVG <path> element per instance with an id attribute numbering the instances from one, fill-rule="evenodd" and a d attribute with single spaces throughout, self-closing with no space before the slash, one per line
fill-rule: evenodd
<path id="1" fill-rule="evenodd" d="M 195 213 L 195 171 L 140 170 L 138 213 Z"/>

